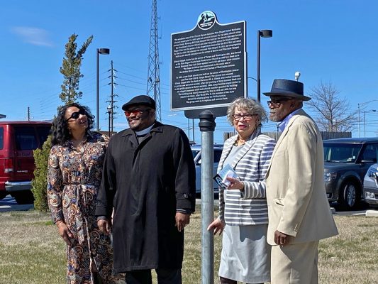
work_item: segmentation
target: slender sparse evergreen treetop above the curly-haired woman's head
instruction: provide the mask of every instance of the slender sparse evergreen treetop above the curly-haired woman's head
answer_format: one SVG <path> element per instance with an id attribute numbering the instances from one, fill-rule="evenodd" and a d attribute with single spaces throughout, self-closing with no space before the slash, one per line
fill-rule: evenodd
<path id="1" fill-rule="evenodd" d="M 72 34 L 68 38 L 68 43 L 65 45 L 65 58 L 63 58 L 62 67 L 60 67 L 60 73 L 64 76 L 63 84 L 61 85 L 62 92 L 59 97 L 65 104 L 77 102 L 77 99 L 82 97 L 82 92 L 79 91 L 79 80 L 84 77 L 80 72 L 82 66 L 82 58 L 91 44 L 93 35 L 91 35 L 77 51 L 77 39 L 76 34 Z"/>

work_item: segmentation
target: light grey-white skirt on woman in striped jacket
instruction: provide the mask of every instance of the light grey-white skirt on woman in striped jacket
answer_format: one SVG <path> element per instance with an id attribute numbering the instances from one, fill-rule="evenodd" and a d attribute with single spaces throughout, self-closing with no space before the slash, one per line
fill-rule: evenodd
<path id="1" fill-rule="evenodd" d="M 219 276 L 243 283 L 270 282 L 267 224 L 229 226 L 223 230 Z"/>

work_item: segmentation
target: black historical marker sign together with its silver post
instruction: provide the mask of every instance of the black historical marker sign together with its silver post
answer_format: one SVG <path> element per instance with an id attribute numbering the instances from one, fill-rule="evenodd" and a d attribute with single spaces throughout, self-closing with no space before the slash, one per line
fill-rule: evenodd
<path id="1" fill-rule="evenodd" d="M 214 283 L 214 236 L 207 227 L 214 219 L 215 117 L 226 116 L 233 100 L 247 97 L 245 26 L 245 21 L 218 23 L 215 13 L 204 11 L 191 31 L 171 35 L 171 110 L 200 119 L 202 284 Z"/>

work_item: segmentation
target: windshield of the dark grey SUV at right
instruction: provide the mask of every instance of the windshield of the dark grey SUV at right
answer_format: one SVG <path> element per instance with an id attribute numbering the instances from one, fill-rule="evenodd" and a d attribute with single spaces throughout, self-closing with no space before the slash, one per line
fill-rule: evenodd
<path id="1" fill-rule="evenodd" d="M 355 163 L 361 144 L 324 143 L 324 162 Z"/>

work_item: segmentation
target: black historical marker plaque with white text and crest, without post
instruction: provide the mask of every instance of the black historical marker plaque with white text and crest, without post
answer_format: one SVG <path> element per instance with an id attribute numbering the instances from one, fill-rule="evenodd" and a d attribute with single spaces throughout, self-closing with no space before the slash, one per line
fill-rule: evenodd
<path id="1" fill-rule="evenodd" d="M 191 31 L 172 33 L 171 109 L 227 107 L 247 97 L 245 21 L 221 25 L 204 11 Z"/>

